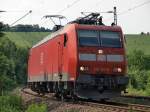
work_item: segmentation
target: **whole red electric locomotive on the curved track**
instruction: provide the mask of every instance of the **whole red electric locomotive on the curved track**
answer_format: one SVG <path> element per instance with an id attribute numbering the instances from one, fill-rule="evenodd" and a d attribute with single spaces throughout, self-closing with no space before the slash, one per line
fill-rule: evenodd
<path id="1" fill-rule="evenodd" d="M 128 84 L 121 27 L 106 26 L 99 14 L 65 25 L 29 52 L 28 87 L 57 97 L 110 99 Z"/>

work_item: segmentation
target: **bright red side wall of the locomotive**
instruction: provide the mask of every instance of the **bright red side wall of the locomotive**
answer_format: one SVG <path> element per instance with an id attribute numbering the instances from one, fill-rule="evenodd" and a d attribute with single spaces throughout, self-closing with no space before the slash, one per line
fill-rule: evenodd
<path id="1" fill-rule="evenodd" d="M 61 34 L 47 42 L 31 48 L 28 75 L 40 76 L 45 74 L 54 74 L 64 72 L 71 77 L 76 76 L 77 65 L 77 44 L 75 24 L 66 26 Z M 68 41 L 64 47 L 64 35 L 67 34 Z M 41 64 L 41 53 L 43 53 L 43 63 Z"/>

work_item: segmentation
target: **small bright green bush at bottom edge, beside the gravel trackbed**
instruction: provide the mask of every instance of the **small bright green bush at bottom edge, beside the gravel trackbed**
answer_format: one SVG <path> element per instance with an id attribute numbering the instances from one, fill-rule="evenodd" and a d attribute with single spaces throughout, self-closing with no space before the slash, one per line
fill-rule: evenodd
<path id="1" fill-rule="evenodd" d="M 48 112 L 45 104 L 31 104 L 26 112 Z"/>

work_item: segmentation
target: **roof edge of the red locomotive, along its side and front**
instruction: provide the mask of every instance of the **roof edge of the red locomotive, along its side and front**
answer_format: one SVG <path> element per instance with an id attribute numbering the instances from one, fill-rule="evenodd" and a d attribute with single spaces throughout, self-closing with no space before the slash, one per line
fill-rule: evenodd
<path id="1" fill-rule="evenodd" d="M 80 28 L 85 27 L 85 25 L 82 25 L 82 24 L 77 24 L 77 23 L 74 23 L 74 24 L 78 25 Z M 57 36 L 57 35 L 63 34 L 63 33 L 64 33 L 64 29 L 66 29 L 66 28 L 67 28 L 68 26 L 70 26 L 70 25 L 71 25 L 71 24 L 67 24 L 67 25 L 65 25 L 64 27 L 62 27 L 61 29 L 59 29 L 58 31 L 55 31 L 55 32 L 49 34 L 49 35 L 46 36 L 43 40 L 41 40 L 41 41 L 39 41 L 37 44 L 33 45 L 32 48 L 35 48 L 35 47 L 37 47 L 37 46 L 39 46 L 39 45 L 41 45 L 41 44 L 47 42 L 48 40 L 54 38 L 54 37 Z M 87 27 L 90 27 L 90 26 L 100 27 L 100 26 L 98 26 L 98 25 L 86 25 L 86 26 L 87 26 Z M 107 29 L 107 28 L 109 28 L 109 29 L 121 29 L 119 26 L 113 26 L 113 27 L 112 27 L 112 26 L 101 26 L 101 27 L 106 28 L 106 29 Z"/>

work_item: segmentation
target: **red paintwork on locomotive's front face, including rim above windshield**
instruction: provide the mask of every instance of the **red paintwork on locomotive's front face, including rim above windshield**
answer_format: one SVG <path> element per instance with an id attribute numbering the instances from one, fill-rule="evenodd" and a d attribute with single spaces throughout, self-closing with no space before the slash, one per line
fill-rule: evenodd
<path id="1" fill-rule="evenodd" d="M 85 29 L 85 30 L 106 30 L 106 31 L 118 31 L 120 32 L 120 37 L 122 40 L 123 48 L 104 48 L 104 47 L 79 47 L 78 52 L 80 53 L 93 53 L 98 55 L 98 50 L 103 50 L 103 54 L 120 54 L 124 55 L 124 62 L 88 62 L 88 61 L 80 61 L 80 66 L 86 66 L 89 67 L 89 70 L 86 73 L 89 74 L 105 74 L 105 75 L 126 75 L 127 73 L 127 61 L 126 61 L 126 52 L 125 52 L 125 45 L 124 45 L 124 38 L 123 33 L 120 27 L 118 26 L 91 26 L 91 25 L 79 25 L 77 29 Z M 79 70 L 78 72 L 82 74 L 82 72 Z M 114 67 L 120 67 L 122 68 L 121 73 L 114 73 L 113 68 Z M 84 72 L 83 72 L 84 73 Z"/>

